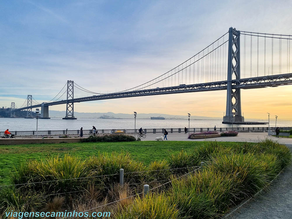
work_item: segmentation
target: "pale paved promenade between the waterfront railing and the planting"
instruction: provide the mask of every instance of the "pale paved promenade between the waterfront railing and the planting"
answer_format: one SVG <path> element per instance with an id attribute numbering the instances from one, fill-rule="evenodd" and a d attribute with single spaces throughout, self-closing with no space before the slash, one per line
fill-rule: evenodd
<path id="1" fill-rule="evenodd" d="M 156 137 L 163 136 L 163 134 L 146 134 L 146 138 L 141 138 L 142 141 L 153 141 Z M 168 133 L 167 139 L 171 141 L 235 141 L 235 142 L 258 142 L 261 139 L 270 138 L 277 140 L 282 144 L 292 145 L 292 138 L 276 138 L 268 136 L 267 132 L 239 132 L 235 137 L 218 137 L 218 138 L 199 138 L 188 139 L 187 134 L 184 133 Z M 137 135 L 136 135 L 137 137 Z"/>

